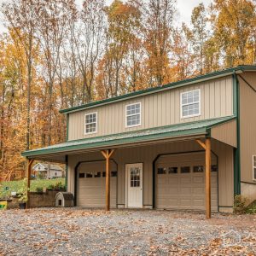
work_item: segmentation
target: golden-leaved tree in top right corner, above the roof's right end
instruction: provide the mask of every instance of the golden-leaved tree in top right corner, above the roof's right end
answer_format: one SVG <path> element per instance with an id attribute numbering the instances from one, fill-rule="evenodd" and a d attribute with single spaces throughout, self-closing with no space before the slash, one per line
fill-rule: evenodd
<path id="1" fill-rule="evenodd" d="M 253 64 L 255 58 L 248 56 L 255 56 L 255 10 L 255 3 L 250 0 L 215 0 L 212 4 L 214 37 L 222 52 L 224 67 Z"/>

